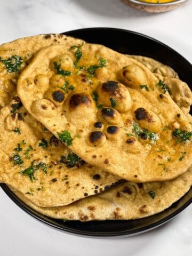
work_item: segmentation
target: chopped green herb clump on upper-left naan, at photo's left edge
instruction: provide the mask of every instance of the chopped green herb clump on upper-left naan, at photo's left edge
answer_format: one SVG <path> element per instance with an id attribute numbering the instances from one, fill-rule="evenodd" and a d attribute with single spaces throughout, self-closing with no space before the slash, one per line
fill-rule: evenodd
<path id="1" fill-rule="evenodd" d="M 3 60 L 0 57 L 0 61 L 5 65 L 5 68 L 8 73 L 13 73 L 13 72 L 19 73 L 19 69 L 23 62 L 22 58 L 18 57 L 17 55 L 13 55 L 12 57 L 10 57 L 7 60 Z"/>

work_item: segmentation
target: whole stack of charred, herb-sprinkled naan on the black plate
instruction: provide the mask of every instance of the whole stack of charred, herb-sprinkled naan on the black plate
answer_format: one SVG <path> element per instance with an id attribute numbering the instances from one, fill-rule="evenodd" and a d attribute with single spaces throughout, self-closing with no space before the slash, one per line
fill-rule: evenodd
<path id="1" fill-rule="evenodd" d="M 192 93 L 156 60 L 65 35 L 0 46 L 0 182 L 52 218 L 129 220 L 192 185 Z"/>

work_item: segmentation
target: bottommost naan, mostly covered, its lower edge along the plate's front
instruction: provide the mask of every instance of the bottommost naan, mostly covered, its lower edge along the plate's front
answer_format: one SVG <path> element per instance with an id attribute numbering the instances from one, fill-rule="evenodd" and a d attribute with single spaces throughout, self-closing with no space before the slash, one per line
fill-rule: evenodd
<path id="1" fill-rule="evenodd" d="M 65 220 L 130 220 L 162 212 L 187 193 L 192 185 L 192 168 L 166 182 L 125 182 L 99 195 L 62 207 L 38 207 L 17 190 L 13 192 L 35 211 Z"/>

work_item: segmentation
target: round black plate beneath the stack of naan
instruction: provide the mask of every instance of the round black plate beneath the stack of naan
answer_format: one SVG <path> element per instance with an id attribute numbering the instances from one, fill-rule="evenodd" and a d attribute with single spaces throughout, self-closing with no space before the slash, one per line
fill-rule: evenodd
<path id="1" fill-rule="evenodd" d="M 114 28 L 86 28 L 64 33 L 82 38 L 90 43 L 103 44 L 121 53 L 145 55 L 171 66 L 180 78 L 192 89 L 192 66 L 179 53 L 165 44 L 133 31 Z M 37 220 L 67 233 L 89 237 L 126 237 L 141 234 L 161 226 L 185 209 L 192 202 L 192 188 L 169 209 L 151 217 L 138 220 L 113 221 L 66 221 L 46 217 L 24 204 L 4 184 L 5 193 L 18 205 Z"/>

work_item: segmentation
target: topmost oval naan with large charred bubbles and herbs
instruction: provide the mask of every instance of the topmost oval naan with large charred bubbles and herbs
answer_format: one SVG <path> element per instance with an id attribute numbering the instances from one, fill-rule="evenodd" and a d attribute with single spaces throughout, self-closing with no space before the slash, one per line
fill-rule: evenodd
<path id="1" fill-rule="evenodd" d="M 63 91 L 63 81 L 74 90 Z M 94 44 L 46 47 L 18 80 L 23 105 L 56 137 L 134 182 L 170 180 L 192 164 L 191 124 L 167 90 L 138 61 Z"/>

